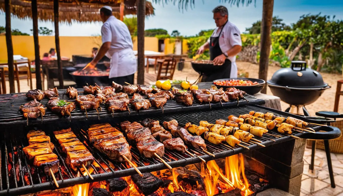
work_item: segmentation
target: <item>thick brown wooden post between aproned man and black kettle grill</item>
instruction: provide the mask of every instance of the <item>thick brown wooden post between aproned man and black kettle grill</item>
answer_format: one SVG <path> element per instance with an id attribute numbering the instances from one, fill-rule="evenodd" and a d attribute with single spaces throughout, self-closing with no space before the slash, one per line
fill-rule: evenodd
<path id="1" fill-rule="evenodd" d="M 274 0 L 263 0 L 259 78 L 267 81 Z M 267 93 L 267 87 L 261 93 Z"/>

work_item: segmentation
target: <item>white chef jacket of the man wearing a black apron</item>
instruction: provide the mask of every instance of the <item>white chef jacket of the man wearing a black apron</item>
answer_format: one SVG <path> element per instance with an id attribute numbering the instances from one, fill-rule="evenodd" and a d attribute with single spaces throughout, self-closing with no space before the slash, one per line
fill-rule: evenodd
<path id="1" fill-rule="evenodd" d="M 224 27 L 217 27 L 214 29 L 211 37 L 218 37 L 220 30 L 223 28 L 222 33 L 220 34 L 219 38 L 219 47 L 222 52 L 227 52 L 232 47 L 239 45 L 242 46 L 242 39 L 240 37 L 239 29 L 236 25 L 227 21 Z M 210 39 L 208 40 L 210 43 Z M 237 64 L 236 64 L 236 56 L 229 56 L 227 57 L 231 61 L 231 73 L 230 78 L 236 78 L 238 71 L 237 71 Z"/>

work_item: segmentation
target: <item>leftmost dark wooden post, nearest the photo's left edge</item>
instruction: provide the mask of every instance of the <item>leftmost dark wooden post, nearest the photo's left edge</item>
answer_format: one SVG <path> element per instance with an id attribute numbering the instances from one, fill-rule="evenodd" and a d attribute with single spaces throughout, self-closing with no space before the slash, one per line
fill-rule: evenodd
<path id="1" fill-rule="evenodd" d="M 10 93 L 15 93 L 14 88 L 14 66 L 13 66 L 13 44 L 11 31 L 11 0 L 5 0 L 5 18 L 6 18 L 6 45 L 7 45 L 7 63 L 8 63 L 8 80 L 10 82 Z M 4 80 L 5 78 L 1 78 Z"/>

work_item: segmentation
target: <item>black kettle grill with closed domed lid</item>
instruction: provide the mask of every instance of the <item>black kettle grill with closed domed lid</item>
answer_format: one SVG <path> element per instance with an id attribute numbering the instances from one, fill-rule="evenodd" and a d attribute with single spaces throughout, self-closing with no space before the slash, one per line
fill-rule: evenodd
<path id="1" fill-rule="evenodd" d="M 306 68 L 305 61 L 292 61 L 290 68 L 277 70 L 267 84 L 273 95 L 289 105 L 302 106 L 304 114 L 310 114 L 304 107 L 315 102 L 324 90 L 331 88 L 315 70 Z M 287 108 L 286 112 L 291 107 Z"/>

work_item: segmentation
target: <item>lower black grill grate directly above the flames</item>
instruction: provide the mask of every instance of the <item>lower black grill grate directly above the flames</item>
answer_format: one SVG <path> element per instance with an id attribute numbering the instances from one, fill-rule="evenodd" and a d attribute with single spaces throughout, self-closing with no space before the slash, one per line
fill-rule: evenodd
<path id="1" fill-rule="evenodd" d="M 305 120 L 301 117 L 276 111 L 268 108 L 264 108 L 261 106 L 241 106 L 241 107 L 234 107 L 234 108 L 220 108 L 217 110 L 202 110 L 202 111 L 186 111 L 186 112 L 171 112 L 168 114 L 160 115 L 160 114 L 150 114 L 150 115 L 136 115 L 130 117 L 117 117 L 111 119 L 111 121 L 96 121 L 96 123 L 101 122 L 110 122 L 113 126 L 118 127 L 118 123 L 122 122 L 123 120 L 133 121 L 141 121 L 145 118 L 152 118 L 159 120 L 161 123 L 163 121 L 169 121 L 172 119 L 176 119 L 181 126 L 185 125 L 187 122 L 192 122 L 194 124 L 198 124 L 201 120 L 207 120 L 210 123 L 215 123 L 217 119 L 227 119 L 229 115 L 236 115 L 245 114 L 249 111 L 261 111 L 261 112 L 273 112 L 279 116 L 293 116 L 299 119 Z M 73 186 L 75 184 L 83 184 L 87 182 L 94 182 L 94 181 L 101 181 L 110 179 L 113 177 L 122 177 L 122 176 L 129 176 L 135 174 L 135 170 L 131 168 L 126 163 L 116 163 L 114 161 L 109 160 L 105 155 L 101 154 L 97 149 L 91 146 L 88 143 L 85 130 L 87 130 L 90 124 L 93 124 L 92 121 L 85 121 L 85 123 L 72 123 L 70 125 L 63 124 L 63 123 L 47 123 L 44 127 L 37 127 L 42 128 L 47 135 L 50 136 L 51 142 L 54 143 L 55 149 L 54 153 L 58 156 L 60 160 L 60 168 L 59 171 L 55 174 L 57 182 L 60 188 Z M 41 125 L 43 126 L 43 125 Z M 93 163 L 92 168 L 96 171 L 93 172 L 92 176 L 94 181 L 92 181 L 88 176 L 84 176 L 80 170 L 78 172 L 72 171 L 66 165 L 64 159 L 66 155 L 61 151 L 60 145 L 58 144 L 54 134 L 52 131 L 71 127 L 75 135 L 80 139 L 82 143 L 85 144 L 86 148 L 93 154 L 95 158 L 95 162 Z M 17 126 L 18 129 L 20 126 Z M 22 126 L 25 127 L 25 126 Z M 5 127 L 3 132 L 3 139 L 0 143 L 0 154 L 1 154 L 1 167 L 0 167 L 0 195 L 19 195 L 19 194 L 27 194 L 33 193 L 48 189 L 54 189 L 55 185 L 50 176 L 46 176 L 41 169 L 37 169 L 35 167 L 30 167 L 28 164 L 28 160 L 22 151 L 24 146 L 27 146 L 27 138 L 26 133 L 29 130 L 27 127 L 24 128 L 22 133 L 18 134 L 11 134 L 10 128 Z M 18 131 L 19 132 L 19 131 Z M 280 135 L 279 133 L 273 133 L 275 135 Z M 293 135 L 301 135 L 301 133 L 293 133 Z M 263 141 L 263 145 L 269 146 L 275 143 L 285 142 L 287 140 L 293 139 L 292 137 L 285 136 L 285 137 L 272 137 L 272 136 L 263 136 L 263 137 L 256 137 Z M 275 139 L 275 142 L 270 140 Z M 213 153 L 216 157 L 212 157 L 206 155 L 200 149 L 194 149 L 188 146 L 190 151 L 196 152 L 201 158 L 205 160 L 213 160 L 216 158 L 228 157 L 234 154 L 238 154 L 240 152 L 247 151 L 245 148 L 230 148 L 223 144 L 221 145 L 214 145 L 207 141 L 205 141 L 207 145 L 208 151 Z M 163 163 L 161 163 L 158 159 L 152 158 L 147 159 L 140 156 L 138 149 L 135 147 L 134 144 L 130 143 L 132 146 L 131 154 L 132 154 L 132 161 L 137 163 L 138 169 L 141 172 L 152 172 L 158 171 L 161 169 L 166 169 Z M 256 144 L 252 144 L 249 146 L 251 150 L 255 150 L 261 148 Z M 11 156 L 11 158 L 9 157 Z M 162 157 L 171 167 L 183 167 L 188 164 L 198 163 L 200 160 L 197 157 L 190 157 L 188 154 L 179 153 L 176 151 L 165 150 L 165 156 Z M 9 166 L 12 166 L 13 170 L 8 170 Z M 19 172 L 16 172 L 15 167 L 18 168 Z M 16 175 L 19 179 L 16 179 Z M 5 181 L 2 179 L 6 179 Z"/>

